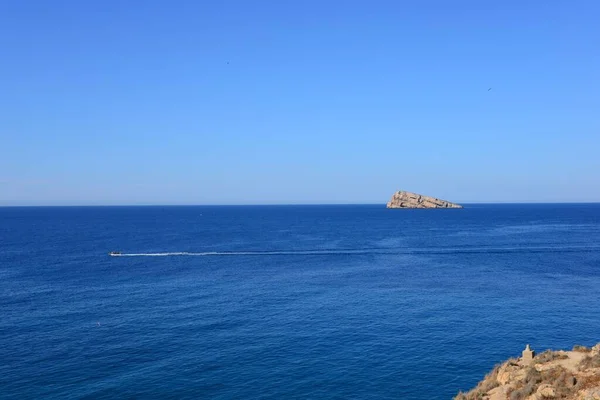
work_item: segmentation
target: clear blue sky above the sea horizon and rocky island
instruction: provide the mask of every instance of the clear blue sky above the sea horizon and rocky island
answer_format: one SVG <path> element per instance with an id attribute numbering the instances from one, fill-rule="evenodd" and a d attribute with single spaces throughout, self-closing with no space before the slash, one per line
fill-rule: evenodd
<path id="1" fill-rule="evenodd" d="M 600 201 L 599 16 L 0 0 L 0 205 Z"/>

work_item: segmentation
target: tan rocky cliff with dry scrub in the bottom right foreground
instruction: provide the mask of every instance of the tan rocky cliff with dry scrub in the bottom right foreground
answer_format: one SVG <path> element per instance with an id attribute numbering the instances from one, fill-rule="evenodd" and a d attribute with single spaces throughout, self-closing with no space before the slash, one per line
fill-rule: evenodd
<path id="1" fill-rule="evenodd" d="M 527 346 L 522 357 L 496 366 L 477 387 L 454 399 L 600 400 L 600 343 L 539 355 Z"/>

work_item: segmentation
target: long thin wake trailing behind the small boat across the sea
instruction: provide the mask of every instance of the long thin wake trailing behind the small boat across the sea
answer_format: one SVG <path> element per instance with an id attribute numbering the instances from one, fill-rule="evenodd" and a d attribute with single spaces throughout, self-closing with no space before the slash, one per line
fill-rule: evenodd
<path id="1" fill-rule="evenodd" d="M 519 247 L 451 247 L 451 248 L 387 248 L 338 250 L 257 250 L 257 251 L 205 251 L 121 253 L 112 257 L 218 257 L 218 256 L 336 256 L 336 255 L 427 255 L 427 254 L 502 254 L 502 253 L 570 253 L 596 252 L 600 246 L 519 246 Z"/>

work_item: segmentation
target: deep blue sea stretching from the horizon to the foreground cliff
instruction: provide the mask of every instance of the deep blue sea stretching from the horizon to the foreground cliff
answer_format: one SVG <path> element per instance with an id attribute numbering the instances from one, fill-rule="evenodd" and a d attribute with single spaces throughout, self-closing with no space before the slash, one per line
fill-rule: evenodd
<path id="1" fill-rule="evenodd" d="M 598 204 L 0 208 L 1 398 L 449 399 L 599 310 Z"/>

